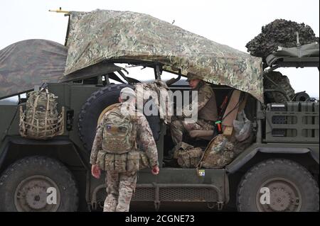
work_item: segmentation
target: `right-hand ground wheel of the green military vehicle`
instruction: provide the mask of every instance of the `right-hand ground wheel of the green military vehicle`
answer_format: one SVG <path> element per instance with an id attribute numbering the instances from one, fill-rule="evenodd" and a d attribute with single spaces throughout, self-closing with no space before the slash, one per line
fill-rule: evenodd
<path id="1" fill-rule="evenodd" d="M 270 159 L 243 176 L 237 207 L 240 212 L 319 211 L 319 187 L 304 166 L 287 159 Z"/>

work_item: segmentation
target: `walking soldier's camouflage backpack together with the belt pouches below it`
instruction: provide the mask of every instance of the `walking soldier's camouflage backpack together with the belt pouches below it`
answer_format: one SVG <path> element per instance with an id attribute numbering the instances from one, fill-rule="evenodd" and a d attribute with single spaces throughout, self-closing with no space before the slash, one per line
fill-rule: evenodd
<path id="1" fill-rule="evenodd" d="M 137 148 L 137 118 L 122 114 L 117 104 L 102 123 L 102 149 L 97 154 L 97 164 L 105 171 L 138 171 L 149 167 L 149 159 Z"/>

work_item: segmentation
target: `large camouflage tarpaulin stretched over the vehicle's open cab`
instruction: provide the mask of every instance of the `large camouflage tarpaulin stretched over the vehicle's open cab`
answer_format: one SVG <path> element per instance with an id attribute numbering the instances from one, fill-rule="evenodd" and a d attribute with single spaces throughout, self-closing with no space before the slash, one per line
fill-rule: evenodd
<path id="1" fill-rule="evenodd" d="M 156 61 L 166 70 L 198 74 L 204 81 L 232 86 L 263 101 L 260 58 L 146 14 L 73 11 L 67 47 L 65 74 L 103 60 Z"/>

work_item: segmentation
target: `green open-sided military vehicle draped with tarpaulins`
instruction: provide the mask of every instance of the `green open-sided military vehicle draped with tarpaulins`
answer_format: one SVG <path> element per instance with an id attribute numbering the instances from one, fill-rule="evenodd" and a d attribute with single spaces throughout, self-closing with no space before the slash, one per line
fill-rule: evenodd
<path id="1" fill-rule="evenodd" d="M 186 83 L 178 83 L 186 77 L 186 72 L 200 74 L 213 86 L 218 106 L 230 90 L 241 90 L 249 94 L 245 113 L 254 125 L 255 140 L 233 162 L 219 168 L 201 169 L 200 175 L 194 168 L 168 166 L 163 161 L 172 148 L 169 125 L 159 116 L 148 116 L 158 149 L 160 174 L 154 176 L 149 169 L 139 171 L 133 203 L 151 202 L 155 210 L 166 202 L 206 203 L 213 210 L 319 210 L 319 102 L 300 94 L 290 99 L 281 86 L 264 90 L 260 58 L 213 43 L 156 18 L 119 11 L 70 12 L 68 16 L 65 46 L 48 40 L 26 40 L 0 52 L 0 56 L 4 56 L 0 63 L 1 99 L 18 96 L 16 105 L 0 105 L 1 211 L 86 211 L 103 206 L 105 177 L 93 178 L 89 164 L 97 120 L 107 106 L 117 103 L 123 87 L 139 83 L 114 63 L 153 68 L 153 79 L 161 79 L 163 72 L 170 72 L 176 78 L 169 83 L 173 91 L 188 90 Z M 95 18 L 115 31 L 96 26 Z M 86 26 L 87 19 L 92 20 L 90 26 Z M 144 23 L 149 26 L 143 26 Z M 82 28 L 89 30 L 84 32 Z M 113 43 L 107 43 L 107 38 L 83 42 L 87 39 L 85 35 L 92 34 L 91 28 L 105 34 L 111 32 L 109 40 Z M 131 28 L 136 29 L 134 34 L 142 36 L 133 36 Z M 104 37 L 99 32 L 95 35 Z M 157 35 L 162 45 L 155 42 Z M 166 35 L 181 36 L 166 39 Z M 142 37 L 152 43 L 144 44 L 143 50 Z M 137 49 L 122 48 L 128 40 L 136 43 Z M 186 44 L 177 45 L 176 40 Z M 201 49 L 203 43 L 206 50 Z M 157 49 L 157 45 L 161 48 Z M 314 45 L 314 50 L 318 50 L 314 55 L 273 55 L 265 74 L 279 67 L 319 68 L 319 44 Z M 107 55 L 107 51 L 117 47 L 119 51 Z M 173 52 L 166 52 L 168 48 Z M 197 48 L 204 54 L 194 61 L 192 57 L 201 55 L 193 52 Z M 98 49 L 101 52 L 95 52 Z M 186 55 L 176 54 L 188 50 L 191 52 Z M 210 55 L 206 54 L 207 50 Z M 150 51 L 151 55 L 145 54 Z M 214 62 L 215 66 L 201 60 Z M 23 137 L 19 132 L 19 111 L 21 106 L 25 108 L 27 98 L 21 94 L 38 89 L 34 86 L 43 81 L 47 81 L 50 93 L 58 96 L 58 109 L 64 117 L 63 135 L 47 140 Z M 112 84 L 114 81 L 121 84 Z M 287 101 L 270 101 L 267 94 L 275 92 Z M 188 141 L 208 145 L 201 137 Z M 51 203 L 48 196 L 54 192 L 48 188 L 55 188 L 56 198 L 50 199 Z"/>

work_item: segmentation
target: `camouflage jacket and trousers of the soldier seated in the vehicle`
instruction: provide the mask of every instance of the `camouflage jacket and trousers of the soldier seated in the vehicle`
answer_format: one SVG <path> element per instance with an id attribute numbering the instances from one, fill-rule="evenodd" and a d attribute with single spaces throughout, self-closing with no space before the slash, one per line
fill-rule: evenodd
<path id="1" fill-rule="evenodd" d="M 183 133 L 191 130 L 213 130 L 213 123 L 218 118 L 213 89 L 205 82 L 200 81 L 194 90 L 198 91 L 198 120 L 196 123 L 186 123 L 184 120 L 172 121 L 170 125 L 171 137 L 175 145 L 182 142 Z M 183 116 L 185 115 L 183 113 Z"/>

